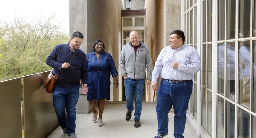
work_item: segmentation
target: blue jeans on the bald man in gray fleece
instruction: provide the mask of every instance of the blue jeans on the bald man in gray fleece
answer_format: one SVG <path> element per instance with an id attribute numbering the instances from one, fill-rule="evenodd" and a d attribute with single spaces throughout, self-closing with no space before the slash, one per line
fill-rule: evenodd
<path id="1" fill-rule="evenodd" d="M 133 92 L 135 91 L 135 112 L 134 120 L 140 120 L 142 108 L 142 94 L 144 87 L 144 79 L 134 80 L 130 78 L 124 79 L 126 107 L 128 111 L 133 111 Z"/>

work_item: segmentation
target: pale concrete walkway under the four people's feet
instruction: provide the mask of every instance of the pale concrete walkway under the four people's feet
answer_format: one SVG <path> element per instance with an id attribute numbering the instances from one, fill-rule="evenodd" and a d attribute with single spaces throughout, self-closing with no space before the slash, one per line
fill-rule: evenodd
<path id="1" fill-rule="evenodd" d="M 125 102 L 107 102 L 102 115 L 104 126 L 98 126 L 92 121 L 92 112 L 76 115 L 76 136 L 78 138 L 153 138 L 157 134 L 157 115 L 155 102 L 143 102 L 140 117 L 141 127 L 134 127 L 134 111 L 130 121 L 125 120 L 127 112 Z M 173 138 L 173 116 L 169 113 L 169 135 L 165 138 Z M 99 116 L 98 116 L 99 117 Z M 184 132 L 185 138 L 197 138 L 196 132 L 187 121 Z M 67 138 L 61 127 L 57 127 L 48 138 Z"/>

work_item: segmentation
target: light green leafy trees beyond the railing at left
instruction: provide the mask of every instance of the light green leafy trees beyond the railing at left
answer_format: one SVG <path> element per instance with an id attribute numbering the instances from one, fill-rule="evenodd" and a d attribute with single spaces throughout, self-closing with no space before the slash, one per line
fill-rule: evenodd
<path id="1" fill-rule="evenodd" d="M 0 81 L 51 69 L 46 57 L 54 46 L 68 42 L 68 35 L 53 19 L 0 23 Z"/>

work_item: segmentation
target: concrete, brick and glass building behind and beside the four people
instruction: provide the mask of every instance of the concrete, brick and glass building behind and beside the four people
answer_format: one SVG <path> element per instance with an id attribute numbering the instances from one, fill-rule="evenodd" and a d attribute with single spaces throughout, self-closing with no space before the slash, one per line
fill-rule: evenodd
<path id="1" fill-rule="evenodd" d="M 197 135 L 256 137 L 256 0 L 78 1 L 70 0 L 70 32 L 86 34 L 85 52 L 102 39 L 116 67 L 129 31 L 140 32 L 154 64 L 169 33 L 183 30 L 202 64 L 187 111 Z M 145 16 L 122 16 L 122 10 L 145 10 Z M 112 86 L 113 101 L 123 100 L 123 87 Z M 145 101 L 155 101 L 156 93 L 145 86 Z"/>

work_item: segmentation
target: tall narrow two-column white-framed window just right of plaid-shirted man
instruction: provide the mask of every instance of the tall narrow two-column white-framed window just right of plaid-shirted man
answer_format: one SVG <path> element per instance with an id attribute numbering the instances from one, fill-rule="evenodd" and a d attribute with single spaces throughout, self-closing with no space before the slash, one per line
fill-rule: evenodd
<path id="1" fill-rule="evenodd" d="M 202 1 L 201 126 L 212 135 L 212 0 Z"/>

